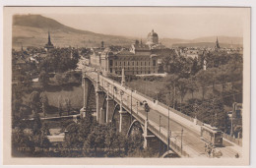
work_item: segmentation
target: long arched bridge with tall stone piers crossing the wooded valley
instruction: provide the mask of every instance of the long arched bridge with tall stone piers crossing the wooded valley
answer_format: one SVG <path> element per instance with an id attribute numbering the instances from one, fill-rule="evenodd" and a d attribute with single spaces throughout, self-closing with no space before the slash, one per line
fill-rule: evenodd
<path id="1" fill-rule="evenodd" d="M 163 148 L 161 154 L 174 152 L 180 157 L 207 157 L 206 142 L 200 139 L 201 126 L 197 119 L 129 88 L 125 85 L 124 74 L 119 84 L 89 67 L 82 72 L 82 118 L 88 110 L 96 108 L 96 121 L 99 124 L 112 122 L 122 134 L 130 136 L 140 127 L 145 148 L 158 146 L 159 150 Z M 233 143 L 226 144 L 222 147 L 223 157 L 234 157 L 236 153 L 241 156 L 241 148 Z"/>

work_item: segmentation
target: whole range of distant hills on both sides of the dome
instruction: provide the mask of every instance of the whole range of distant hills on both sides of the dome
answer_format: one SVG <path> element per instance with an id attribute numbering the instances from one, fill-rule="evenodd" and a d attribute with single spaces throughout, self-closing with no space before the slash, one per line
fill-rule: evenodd
<path id="1" fill-rule="evenodd" d="M 41 15 L 15 15 L 13 17 L 13 48 L 23 46 L 43 47 L 47 42 L 48 30 L 51 33 L 51 41 L 55 46 L 100 46 L 122 45 L 129 47 L 135 41 L 135 37 L 108 35 L 95 33 L 89 30 L 70 28 L 59 22 Z M 145 32 L 147 34 L 147 32 Z M 241 46 L 241 37 L 219 36 L 221 46 Z M 213 46 L 216 36 L 201 37 L 196 39 L 160 38 L 160 42 L 166 47 L 172 46 Z"/>

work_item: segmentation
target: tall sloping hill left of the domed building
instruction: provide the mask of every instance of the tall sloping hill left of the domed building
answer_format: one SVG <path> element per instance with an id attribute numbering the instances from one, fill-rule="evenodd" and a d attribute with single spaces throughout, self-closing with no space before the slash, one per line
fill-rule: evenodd
<path id="1" fill-rule="evenodd" d="M 13 47 L 42 47 L 47 42 L 48 30 L 55 46 L 100 46 L 103 40 L 106 45 L 127 45 L 135 40 L 131 37 L 107 35 L 88 30 L 70 28 L 55 20 L 40 15 L 15 15 L 13 17 Z"/>

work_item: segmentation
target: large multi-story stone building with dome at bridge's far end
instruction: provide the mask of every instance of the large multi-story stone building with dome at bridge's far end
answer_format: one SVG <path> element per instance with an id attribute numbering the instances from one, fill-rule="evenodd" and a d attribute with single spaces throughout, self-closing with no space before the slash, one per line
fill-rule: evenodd
<path id="1" fill-rule="evenodd" d="M 173 50 L 165 48 L 159 43 L 158 33 L 152 30 L 144 44 L 136 40 L 130 49 L 113 51 L 107 48 L 92 48 L 90 64 L 105 73 L 121 75 L 157 74 L 160 60 L 169 55 Z"/>

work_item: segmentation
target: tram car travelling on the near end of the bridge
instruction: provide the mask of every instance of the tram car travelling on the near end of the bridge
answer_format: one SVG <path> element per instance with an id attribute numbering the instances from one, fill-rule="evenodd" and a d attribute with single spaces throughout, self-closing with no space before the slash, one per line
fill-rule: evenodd
<path id="1" fill-rule="evenodd" d="M 201 139 L 214 146 L 223 146 L 223 132 L 208 124 L 201 126 Z"/>

